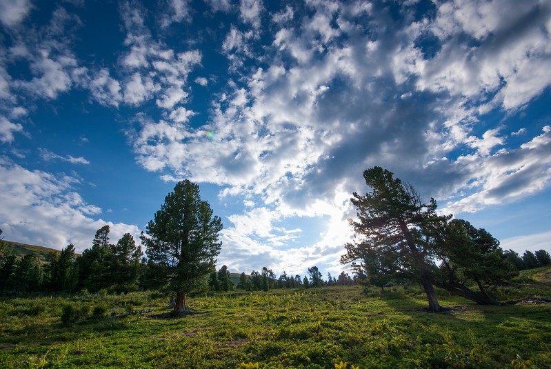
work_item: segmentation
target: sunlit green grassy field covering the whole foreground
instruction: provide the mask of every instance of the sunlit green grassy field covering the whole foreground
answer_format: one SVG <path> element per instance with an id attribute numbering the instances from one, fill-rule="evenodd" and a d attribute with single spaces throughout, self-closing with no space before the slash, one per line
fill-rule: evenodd
<path id="1" fill-rule="evenodd" d="M 497 294 L 551 297 L 549 277 L 525 272 Z M 234 291 L 192 298 L 181 319 L 151 292 L 2 298 L 0 367 L 550 368 L 550 304 L 439 296 L 450 312 L 423 312 L 417 288 Z"/>

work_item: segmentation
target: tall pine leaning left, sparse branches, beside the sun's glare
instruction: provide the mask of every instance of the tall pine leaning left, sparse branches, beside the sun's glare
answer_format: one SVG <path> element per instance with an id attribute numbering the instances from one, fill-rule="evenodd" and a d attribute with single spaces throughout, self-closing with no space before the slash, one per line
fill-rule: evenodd
<path id="1" fill-rule="evenodd" d="M 433 287 L 434 248 L 421 232 L 430 223 L 445 220 L 436 214 L 436 201 L 422 203 L 412 186 L 379 166 L 365 170 L 363 178 L 371 191 L 363 196 L 354 192 L 350 199 L 358 220 L 350 221 L 355 239 L 345 245 L 347 253 L 341 263 L 360 261 L 368 278 L 390 273 L 419 281 L 427 295 L 428 310 L 444 310 Z M 375 270 L 377 266 L 384 270 Z"/>

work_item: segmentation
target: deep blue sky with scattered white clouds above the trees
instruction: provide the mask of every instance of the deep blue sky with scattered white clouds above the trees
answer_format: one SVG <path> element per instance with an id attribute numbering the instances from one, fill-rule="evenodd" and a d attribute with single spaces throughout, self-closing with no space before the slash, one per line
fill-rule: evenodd
<path id="1" fill-rule="evenodd" d="M 338 274 L 383 166 L 551 250 L 548 1 L 0 0 L 0 228 L 89 248 L 199 183 L 232 272 Z"/>

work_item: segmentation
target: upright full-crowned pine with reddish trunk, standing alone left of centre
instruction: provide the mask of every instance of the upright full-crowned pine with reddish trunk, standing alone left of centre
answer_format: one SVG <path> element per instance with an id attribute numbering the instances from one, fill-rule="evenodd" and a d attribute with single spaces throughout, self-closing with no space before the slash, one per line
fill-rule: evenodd
<path id="1" fill-rule="evenodd" d="M 148 256 L 148 283 L 176 295 L 174 315 L 188 313 L 187 296 L 205 287 L 221 249 L 221 219 L 201 200 L 199 186 L 177 183 L 148 223 L 141 241 Z"/>

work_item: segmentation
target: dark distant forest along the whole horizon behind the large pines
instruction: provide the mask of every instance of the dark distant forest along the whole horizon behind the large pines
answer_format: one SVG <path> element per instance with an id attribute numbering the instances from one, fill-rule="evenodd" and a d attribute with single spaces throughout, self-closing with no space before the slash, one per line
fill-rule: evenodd
<path id="1" fill-rule="evenodd" d="M 75 253 L 72 244 L 61 252 L 43 248 L 46 250 L 45 255 L 37 251 L 14 255 L 14 245 L 0 240 L 0 293 L 18 295 L 26 292 L 74 293 L 85 290 L 90 293 L 100 290 L 121 293 L 154 290 L 148 280 L 150 266 L 143 257 L 141 246 L 136 245 L 130 234 L 123 235 L 117 243 L 110 243 L 109 232 L 109 226 L 97 230 L 92 246 L 84 250 L 82 255 Z M 517 270 L 551 265 L 551 257 L 545 250 L 525 251 L 522 257 L 508 250 L 503 252 L 503 257 Z M 354 265 L 352 276 L 341 272 L 338 276 L 328 273 L 325 278 L 317 266 L 308 268 L 308 274 L 304 277 L 287 275 L 285 272 L 278 277 L 267 267 L 252 270 L 249 275 L 245 272 L 239 275 L 230 273 L 227 266 L 222 266 L 205 277 L 203 292 L 367 285 L 369 281 L 362 268 Z M 387 285 L 393 283 L 397 281 L 388 281 Z M 379 287 L 384 288 L 385 285 Z"/>

